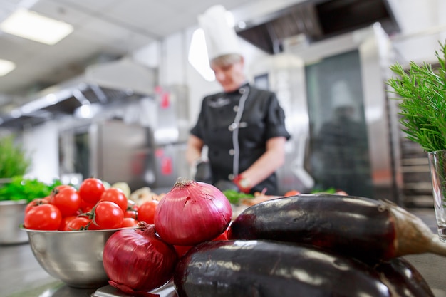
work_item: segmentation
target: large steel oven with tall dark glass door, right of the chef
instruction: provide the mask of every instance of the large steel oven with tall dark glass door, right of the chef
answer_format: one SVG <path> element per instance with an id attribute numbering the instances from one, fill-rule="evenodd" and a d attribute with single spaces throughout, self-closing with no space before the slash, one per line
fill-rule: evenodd
<path id="1" fill-rule="evenodd" d="M 384 83 L 387 34 L 373 24 L 318 43 L 295 41 L 253 69 L 268 75 L 291 133 L 279 189 L 343 190 L 398 202 Z"/>

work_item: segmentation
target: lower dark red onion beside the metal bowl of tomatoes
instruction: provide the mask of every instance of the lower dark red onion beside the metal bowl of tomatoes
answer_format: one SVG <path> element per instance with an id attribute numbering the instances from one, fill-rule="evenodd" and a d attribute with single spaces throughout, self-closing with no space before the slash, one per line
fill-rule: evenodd
<path id="1" fill-rule="evenodd" d="M 153 225 L 140 222 L 140 226 L 110 236 L 104 246 L 104 269 L 110 286 L 132 296 L 156 296 L 147 291 L 172 278 L 177 253 L 155 234 Z"/>

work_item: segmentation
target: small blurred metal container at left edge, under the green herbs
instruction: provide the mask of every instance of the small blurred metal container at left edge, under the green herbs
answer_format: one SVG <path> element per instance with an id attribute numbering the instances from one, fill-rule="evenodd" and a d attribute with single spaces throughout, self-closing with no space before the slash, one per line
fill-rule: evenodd
<path id="1" fill-rule="evenodd" d="M 0 244 L 24 244 L 28 236 L 21 231 L 24 224 L 26 200 L 0 201 Z"/>

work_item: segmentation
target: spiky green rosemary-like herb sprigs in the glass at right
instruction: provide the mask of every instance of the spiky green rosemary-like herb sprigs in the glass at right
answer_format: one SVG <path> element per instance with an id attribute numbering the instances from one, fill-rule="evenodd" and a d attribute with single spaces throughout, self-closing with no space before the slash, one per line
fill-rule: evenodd
<path id="1" fill-rule="evenodd" d="M 435 56 L 440 66 L 418 66 L 411 61 L 405 71 L 395 63 L 390 70 L 398 77 L 386 82 L 392 88 L 388 91 L 399 96 L 393 99 L 401 99 L 400 123 L 406 137 L 425 152 L 446 149 L 446 44 L 439 43 L 441 49 L 435 51 Z"/>

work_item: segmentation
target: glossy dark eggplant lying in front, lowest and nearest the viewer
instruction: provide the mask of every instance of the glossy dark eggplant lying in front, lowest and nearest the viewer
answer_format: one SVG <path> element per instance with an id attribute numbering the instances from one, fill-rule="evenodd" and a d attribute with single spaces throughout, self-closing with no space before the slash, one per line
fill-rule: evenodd
<path id="1" fill-rule="evenodd" d="M 178 261 L 173 281 L 179 297 L 398 296 L 361 261 L 266 240 L 199 244 Z"/>

